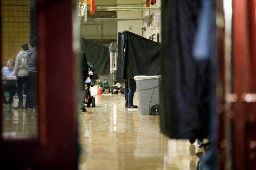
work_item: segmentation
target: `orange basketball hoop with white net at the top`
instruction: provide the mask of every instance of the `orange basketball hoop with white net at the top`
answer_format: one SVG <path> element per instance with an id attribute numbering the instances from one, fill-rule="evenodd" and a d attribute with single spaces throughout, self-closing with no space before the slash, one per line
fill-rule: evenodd
<path id="1" fill-rule="evenodd" d="M 77 1 L 76 6 L 77 6 L 77 18 L 78 18 L 78 20 L 80 20 L 81 17 L 84 17 L 85 12 L 87 12 L 87 9 L 85 9 L 86 8 L 86 3 L 89 4 L 90 7 L 91 7 L 91 9 L 90 9 L 91 15 L 95 14 L 95 0 Z M 87 20 L 87 18 L 86 18 L 86 20 Z"/>

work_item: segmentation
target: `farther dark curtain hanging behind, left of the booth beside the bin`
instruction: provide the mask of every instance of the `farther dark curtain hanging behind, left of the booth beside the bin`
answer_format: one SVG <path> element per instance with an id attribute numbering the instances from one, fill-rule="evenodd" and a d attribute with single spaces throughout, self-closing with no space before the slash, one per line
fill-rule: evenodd
<path id="1" fill-rule="evenodd" d="M 85 53 L 86 59 L 95 68 L 95 74 L 109 74 L 109 48 L 104 44 L 80 38 L 81 51 Z"/>

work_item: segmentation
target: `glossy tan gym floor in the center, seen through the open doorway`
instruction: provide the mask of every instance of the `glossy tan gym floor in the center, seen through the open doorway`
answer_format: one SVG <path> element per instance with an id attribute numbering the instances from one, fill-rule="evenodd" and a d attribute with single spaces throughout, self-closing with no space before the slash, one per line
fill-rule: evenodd
<path id="1" fill-rule="evenodd" d="M 159 115 L 128 111 L 124 103 L 124 94 L 103 94 L 96 96 L 96 107 L 79 112 L 79 170 L 197 169 L 204 150 L 196 142 L 168 139 Z"/>

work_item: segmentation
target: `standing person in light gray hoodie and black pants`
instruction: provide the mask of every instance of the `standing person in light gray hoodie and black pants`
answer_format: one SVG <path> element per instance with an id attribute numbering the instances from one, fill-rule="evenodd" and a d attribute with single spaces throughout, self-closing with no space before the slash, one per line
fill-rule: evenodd
<path id="1" fill-rule="evenodd" d="M 24 94 L 28 98 L 30 90 L 30 82 L 28 77 L 28 63 L 27 63 L 27 51 L 29 50 L 28 44 L 24 42 L 20 47 L 20 52 L 18 53 L 15 60 L 15 75 L 17 77 L 17 94 L 19 98 L 19 103 L 14 109 L 23 109 L 23 87 Z M 25 86 L 24 86 L 25 84 Z M 26 100 L 25 109 L 27 109 L 28 100 Z"/>

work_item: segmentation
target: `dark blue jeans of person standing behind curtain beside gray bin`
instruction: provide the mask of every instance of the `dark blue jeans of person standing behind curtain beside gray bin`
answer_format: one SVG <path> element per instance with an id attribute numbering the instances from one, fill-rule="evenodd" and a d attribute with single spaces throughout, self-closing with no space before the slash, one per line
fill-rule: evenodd
<path id="1" fill-rule="evenodd" d="M 134 79 L 124 81 L 124 97 L 126 106 L 133 106 L 133 96 L 136 88 L 136 82 Z"/>

